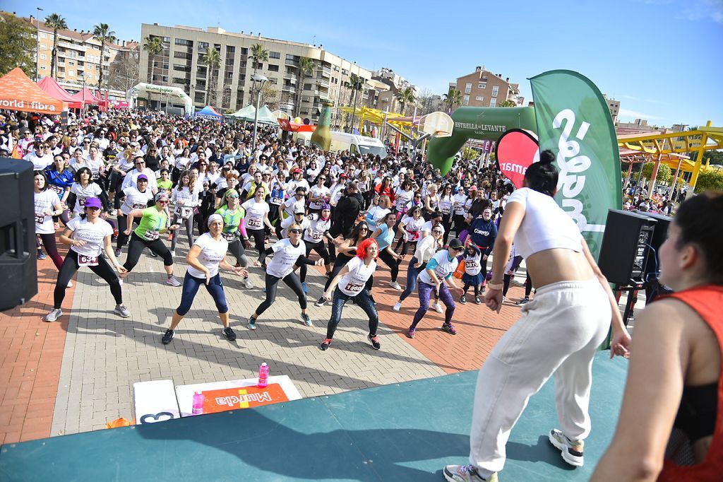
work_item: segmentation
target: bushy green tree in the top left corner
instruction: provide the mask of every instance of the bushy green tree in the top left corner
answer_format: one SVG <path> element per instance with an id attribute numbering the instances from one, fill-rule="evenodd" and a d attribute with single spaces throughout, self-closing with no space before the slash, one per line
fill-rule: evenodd
<path id="1" fill-rule="evenodd" d="M 35 27 L 26 20 L 0 12 L 0 75 L 20 67 L 28 77 L 35 75 Z"/>

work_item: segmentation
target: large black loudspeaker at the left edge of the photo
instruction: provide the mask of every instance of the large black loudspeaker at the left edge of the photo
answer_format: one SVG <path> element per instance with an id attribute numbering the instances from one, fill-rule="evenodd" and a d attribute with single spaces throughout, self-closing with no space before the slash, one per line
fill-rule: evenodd
<path id="1" fill-rule="evenodd" d="M 33 164 L 0 158 L 0 310 L 38 294 Z"/>

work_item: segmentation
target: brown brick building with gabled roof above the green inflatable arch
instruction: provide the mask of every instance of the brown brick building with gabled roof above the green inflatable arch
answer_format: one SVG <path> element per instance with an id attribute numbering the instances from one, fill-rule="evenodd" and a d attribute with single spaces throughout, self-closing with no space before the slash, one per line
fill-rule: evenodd
<path id="1" fill-rule="evenodd" d="M 450 83 L 462 93 L 462 105 L 472 107 L 497 107 L 504 101 L 512 101 L 515 106 L 522 106 L 525 98 L 520 96 L 520 85 L 510 83 L 510 77 L 502 78 L 502 74 L 493 74 L 484 66 L 476 67 L 471 74 L 458 77 Z"/>

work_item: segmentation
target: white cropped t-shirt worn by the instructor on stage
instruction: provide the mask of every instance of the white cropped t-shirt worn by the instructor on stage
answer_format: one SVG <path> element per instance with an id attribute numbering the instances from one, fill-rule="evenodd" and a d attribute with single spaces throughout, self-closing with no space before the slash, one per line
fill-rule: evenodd
<path id="1" fill-rule="evenodd" d="M 523 258 L 553 248 L 582 252 L 580 229 L 552 197 L 522 187 L 510 195 L 507 203 L 520 203 L 525 208 L 515 234 L 515 247 Z"/>

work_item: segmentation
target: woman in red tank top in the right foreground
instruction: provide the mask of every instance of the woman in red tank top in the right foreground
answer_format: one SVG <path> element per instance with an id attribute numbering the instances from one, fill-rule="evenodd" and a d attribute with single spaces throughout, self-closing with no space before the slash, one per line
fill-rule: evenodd
<path id="1" fill-rule="evenodd" d="M 593 481 L 723 479 L 721 240 L 723 193 L 680 206 L 659 250 L 660 282 L 675 293 L 636 322 L 620 420 Z"/>

